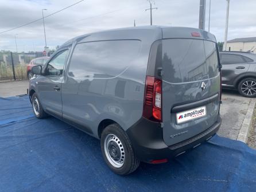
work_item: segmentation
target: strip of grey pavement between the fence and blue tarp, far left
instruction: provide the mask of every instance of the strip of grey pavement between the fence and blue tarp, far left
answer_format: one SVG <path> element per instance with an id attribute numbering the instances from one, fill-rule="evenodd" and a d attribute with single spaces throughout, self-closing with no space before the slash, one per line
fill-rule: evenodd
<path id="1" fill-rule="evenodd" d="M 11 81 L 8 83 L 0 83 L 0 97 L 11 97 L 26 94 L 29 88 L 29 81 Z"/>

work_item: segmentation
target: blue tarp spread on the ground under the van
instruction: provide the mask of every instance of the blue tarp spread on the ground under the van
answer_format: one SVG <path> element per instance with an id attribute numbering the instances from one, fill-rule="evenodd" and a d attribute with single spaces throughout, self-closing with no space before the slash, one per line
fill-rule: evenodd
<path id="1" fill-rule="evenodd" d="M 214 136 L 165 164 L 112 173 L 99 140 L 36 119 L 28 97 L 0 98 L 0 191 L 255 191 L 256 151 Z"/>

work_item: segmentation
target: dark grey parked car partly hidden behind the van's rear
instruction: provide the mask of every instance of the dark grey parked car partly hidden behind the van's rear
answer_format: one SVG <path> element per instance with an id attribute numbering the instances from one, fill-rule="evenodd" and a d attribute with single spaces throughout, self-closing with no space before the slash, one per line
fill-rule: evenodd
<path id="1" fill-rule="evenodd" d="M 220 52 L 222 88 L 236 89 L 242 96 L 256 97 L 256 54 Z"/>

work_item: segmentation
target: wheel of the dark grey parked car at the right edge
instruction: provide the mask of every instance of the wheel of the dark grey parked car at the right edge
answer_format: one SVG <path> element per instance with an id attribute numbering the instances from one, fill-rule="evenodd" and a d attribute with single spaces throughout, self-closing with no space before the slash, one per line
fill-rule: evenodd
<path id="1" fill-rule="evenodd" d="M 256 97 L 256 79 L 249 77 L 238 84 L 238 91 L 244 97 Z"/>

